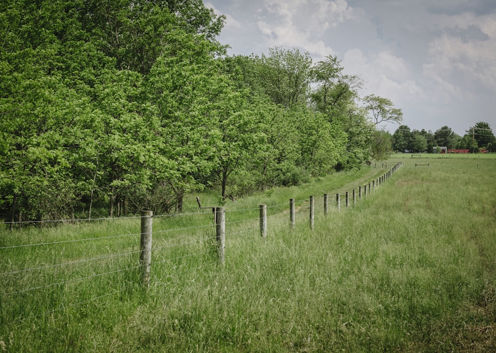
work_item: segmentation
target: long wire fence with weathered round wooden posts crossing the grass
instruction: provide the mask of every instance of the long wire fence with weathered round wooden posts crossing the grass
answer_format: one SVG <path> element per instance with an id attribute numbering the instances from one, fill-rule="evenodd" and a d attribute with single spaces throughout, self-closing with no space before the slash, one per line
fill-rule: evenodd
<path id="1" fill-rule="evenodd" d="M 194 263 L 191 267 L 193 269 L 201 269 L 208 264 L 223 265 L 225 248 L 237 246 L 237 240 L 253 239 L 254 234 L 266 237 L 267 226 L 270 229 L 269 234 L 294 227 L 295 223 L 300 224 L 304 221 L 309 221 L 310 228 L 312 228 L 315 220 L 325 218 L 329 212 L 356 205 L 358 201 L 370 195 L 375 188 L 389 179 L 401 165 L 398 163 L 384 175 L 365 183 L 363 191 L 360 187 L 358 191 L 353 190 L 344 195 L 336 194 L 334 200 L 330 195 L 324 195 L 297 201 L 292 199 L 289 205 L 260 205 L 259 208 L 228 211 L 224 208 L 213 208 L 213 222 L 212 212 L 151 216 L 142 214 L 126 217 L 126 219 L 140 219 L 140 232 L 104 233 L 101 236 L 82 236 L 81 238 L 77 238 L 76 234 L 72 235 L 76 237 L 75 239 L 60 241 L 52 239 L 33 243 L 29 243 L 31 238 L 28 237 L 26 244 L 0 246 L 0 258 L 2 259 L 0 281 L 3 284 L 0 286 L 2 307 L 0 323 L 24 324 L 33 318 L 53 314 L 65 308 L 108 298 L 126 291 L 132 285 L 147 287 L 150 283 L 163 281 L 160 272 L 151 281 L 149 277 L 144 277 L 146 268 L 149 270 L 150 267 L 167 264 L 180 266 L 184 261 Z M 257 211 L 260 211 L 260 216 L 253 217 L 253 212 Z M 222 217 L 218 217 L 219 212 L 223 213 Z M 225 216 L 226 213 L 227 216 Z M 209 217 L 200 218 L 205 214 Z M 230 216 L 235 214 L 249 216 L 245 219 L 231 221 Z M 171 222 L 171 220 L 179 222 L 181 219 L 186 219 L 184 216 L 199 218 L 195 222 L 201 225 L 174 226 L 175 224 Z M 106 218 L 108 222 L 118 219 L 123 218 Z M 155 219 L 155 224 L 153 224 L 153 219 Z M 84 220 L 87 221 L 87 219 Z M 103 218 L 98 220 L 103 220 Z M 185 220 L 185 222 L 189 221 Z M 146 224 L 146 222 L 150 223 Z M 158 229 L 152 231 L 152 224 Z M 116 226 L 116 229 L 111 231 L 117 232 L 118 230 L 119 227 Z M 148 249 L 143 247 L 143 236 L 146 234 L 150 237 Z M 151 246 L 152 236 L 153 246 Z M 222 240 L 224 238 L 227 238 L 227 243 Z M 118 248 L 118 250 L 113 250 L 111 247 Z M 147 251 L 150 253 L 150 259 L 153 259 L 148 263 L 143 258 L 143 254 Z M 93 256 L 86 258 L 88 254 Z M 202 256 L 207 261 L 197 260 Z M 93 294 L 92 290 L 86 290 L 83 293 L 85 296 L 73 303 L 65 303 L 61 299 L 63 295 L 77 291 L 78 285 L 85 288 L 98 286 L 98 283 L 94 283 L 97 280 L 107 292 L 97 291 Z M 108 286 L 108 283 L 125 284 L 120 287 L 118 284 Z M 47 307 L 48 305 L 43 302 L 47 297 L 53 296 L 58 298 L 55 301 L 60 307 Z M 21 309 L 19 301 L 21 297 L 32 303 L 25 310 Z"/>

